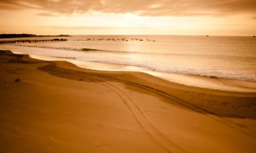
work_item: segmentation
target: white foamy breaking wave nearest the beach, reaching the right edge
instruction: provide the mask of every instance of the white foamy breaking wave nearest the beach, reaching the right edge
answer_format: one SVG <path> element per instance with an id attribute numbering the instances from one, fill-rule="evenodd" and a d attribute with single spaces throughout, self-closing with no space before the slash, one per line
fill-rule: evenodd
<path id="1" fill-rule="evenodd" d="M 124 65 L 124 66 L 134 66 L 148 69 L 150 71 L 158 71 L 164 73 L 180 73 L 187 75 L 199 75 L 208 78 L 222 78 L 230 80 L 242 80 L 249 82 L 256 82 L 256 73 L 251 73 L 248 71 L 231 71 L 225 69 L 213 69 L 207 67 L 195 67 L 189 65 L 164 65 L 160 63 L 143 63 L 136 61 L 122 61 L 122 60 L 91 60 L 91 62 L 96 63 L 109 63 L 115 65 Z"/>

